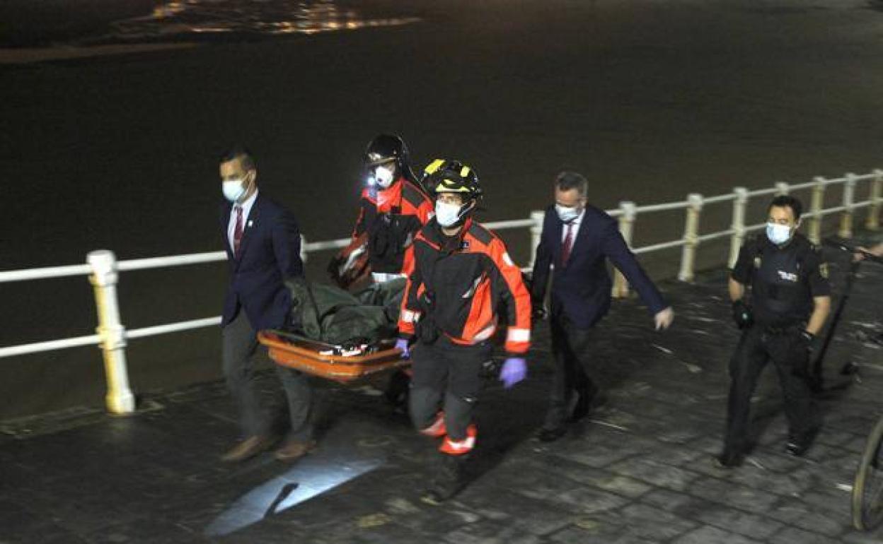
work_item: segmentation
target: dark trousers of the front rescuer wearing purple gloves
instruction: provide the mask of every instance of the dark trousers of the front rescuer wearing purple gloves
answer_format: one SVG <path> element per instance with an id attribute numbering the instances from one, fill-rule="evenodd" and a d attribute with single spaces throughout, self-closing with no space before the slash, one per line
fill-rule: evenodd
<path id="1" fill-rule="evenodd" d="M 432 344 L 419 342 L 411 349 L 410 408 L 415 428 L 430 427 L 443 409 L 448 437 L 454 441 L 466 438 L 481 389 L 481 369 L 491 350 L 487 342 L 460 346 L 443 334 Z"/>

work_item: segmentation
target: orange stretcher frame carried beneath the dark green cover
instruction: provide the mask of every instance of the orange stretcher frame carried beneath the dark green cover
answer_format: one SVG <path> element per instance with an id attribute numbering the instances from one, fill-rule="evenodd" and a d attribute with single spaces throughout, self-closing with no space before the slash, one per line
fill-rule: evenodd
<path id="1" fill-rule="evenodd" d="M 411 361 L 402 359 L 402 351 L 395 347 L 345 357 L 321 354 L 321 344 L 311 345 L 307 341 L 286 339 L 272 331 L 259 332 L 258 340 L 268 347 L 270 359 L 276 364 L 339 384 L 351 384 L 374 374 L 411 366 Z"/>

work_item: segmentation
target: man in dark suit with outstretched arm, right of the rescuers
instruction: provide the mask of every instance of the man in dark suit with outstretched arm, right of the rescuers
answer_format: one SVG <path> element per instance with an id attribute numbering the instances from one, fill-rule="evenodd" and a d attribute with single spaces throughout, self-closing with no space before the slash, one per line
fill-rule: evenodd
<path id="1" fill-rule="evenodd" d="M 568 421 L 577 421 L 603 403 L 599 376 L 592 361 L 594 325 L 610 308 L 612 283 L 606 260 L 623 272 L 653 314 L 656 329 L 668 328 L 675 312 L 638 265 L 619 233 L 616 221 L 586 204 L 588 182 L 576 172 L 555 178 L 555 205 L 543 220 L 540 245 L 533 265 L 532 308 L 543 308 L 549 268 L 552 274 L 551 329 L 555 378 L 546 421 L 540 429 L 543 442 L 567 432 Z M 577 403 L 570 413 L 570 401 Z"/>

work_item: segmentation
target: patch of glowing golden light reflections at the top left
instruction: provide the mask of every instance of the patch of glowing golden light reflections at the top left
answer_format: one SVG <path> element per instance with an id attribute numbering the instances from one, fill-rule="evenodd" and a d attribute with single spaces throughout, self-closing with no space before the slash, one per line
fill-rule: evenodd
<path id="1" fill-rule="evenodd" d="M 318 34 L 418 22 L 414 17 L 368 17 L 336 0 L 170 0 L 146 17 L 112 25 L 109 38 L 156 40 L 198 35 Z"/>

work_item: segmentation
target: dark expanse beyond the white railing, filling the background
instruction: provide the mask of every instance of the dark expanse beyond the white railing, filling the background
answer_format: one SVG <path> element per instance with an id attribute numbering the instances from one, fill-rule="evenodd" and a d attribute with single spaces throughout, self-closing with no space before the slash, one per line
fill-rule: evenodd
<path id="1" fill-rule="evenodd" d="M 310 240 L 350 231 L 361 153 L 380 131 L 402 134 L 420 163 L 471 162 L 487 220 L 546 205 L 562 168 L 587 175 L 592 202 L 609 208 L 883 165 L 883 13 L 872 4 L 337 4 L 359 20 L 420 20 L 208 42 L 177 33 L 171 41 L 200 47 L 0 65 L 2 268 L 79 263 L 97 248 L 121 258 L 220 249 L 215 158 L 233 141 L 253 150 L 263 190 Z M 107 40 L 138 16 L 70 40 Z M 707 208 L 703 228 L 728 214 Z M 682 228 L 679 213 L 642 217 L 636 242 Z M 505 237 L 526 261 L 526 233 Z M 703 248 L 702 264 L 725 250 Z M 316 276 L 328 254 L 311 257 Z M 646 262 L 664 277 L 677 257 Z M 215 315 L 223 281 L 223 265 L 125 273 L 124 322 Z M 0 300 L 3 346 L 94 328 L 83 278 L 0 285 Z M 134 340 L 133 387 L 217 376 L 217 340 L 215 330 Z M 0 375 L 0 416 L 102 402 L 94 348 L 3 360 Z"/>

